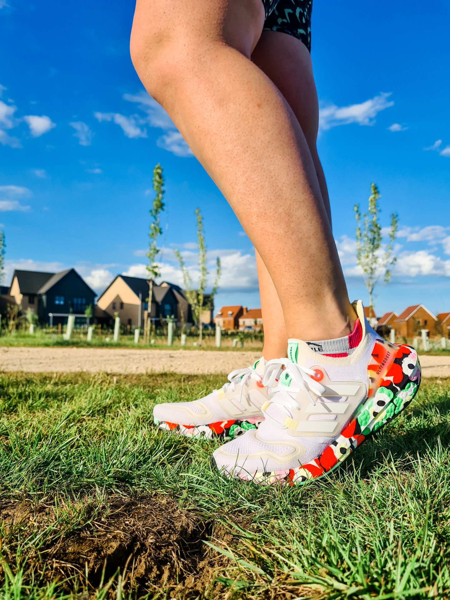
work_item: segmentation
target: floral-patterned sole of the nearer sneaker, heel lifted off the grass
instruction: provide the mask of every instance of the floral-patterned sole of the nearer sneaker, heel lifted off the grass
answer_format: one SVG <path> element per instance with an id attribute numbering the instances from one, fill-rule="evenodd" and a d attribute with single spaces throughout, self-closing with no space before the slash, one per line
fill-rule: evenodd
<path id="1" fill-rule="evenodd" d="M 365 400 L 359 407 L 357 415 L 341 431 L 340 436 L 317 458 L 302 464 L 297 469 L 253 475 L 239 473 L 233 476 L 262 485 L 302 485 L 310 479 L 328 476 L 364 440 L 373 436 L 406 409 L 417 394 L 420 381 L 421 367 L 416 350 L 411 346 L 398 346 L 394 361 L 382 377 L 381 383 L 384 385 L 380 384 L 374 396 Z"/>

